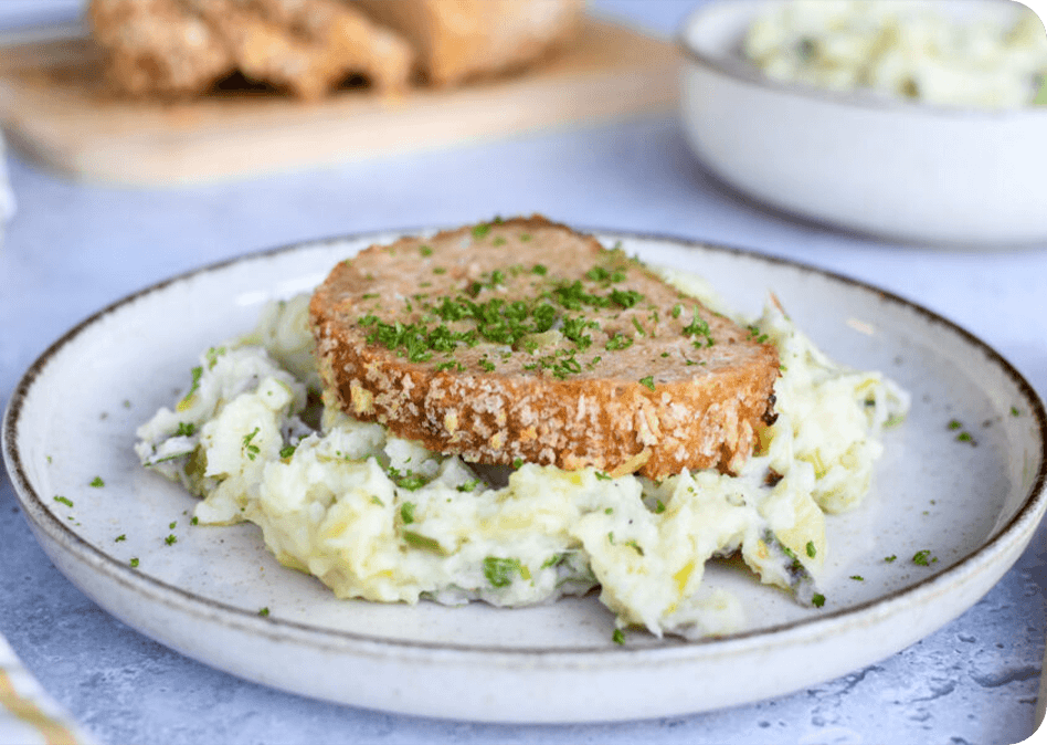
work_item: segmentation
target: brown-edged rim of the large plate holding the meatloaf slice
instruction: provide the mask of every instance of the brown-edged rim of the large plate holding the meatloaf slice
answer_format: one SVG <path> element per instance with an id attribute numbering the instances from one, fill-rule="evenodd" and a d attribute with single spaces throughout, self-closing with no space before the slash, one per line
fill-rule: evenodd
<path id="1" fill-rule="evenodd" d="M 417 234 L 430 230 L 432 229 L 390 230 L 341 235 L 245 254 L 179 274 L 140 290 L 98 311 L 74 326 L 70 332 L 52 344 L 21 378 L 8 403 L 2 431 L 0 431 L 8 473 L 15 487 L 15 493 L 23 507 L 23 512 L 30 522 L 30 527 L 33 528 L 34 533 L 38 533 L 38 539 L 41 534 L 46 535 L 74 560 L 91 567 L 94 571 L 105 575 L 108 580 L 126 587 L 144 599 L 171 609 L 177 609 L 180 612 L 203 620 L 218 621 L 222 627 L 230 630 L 242 631 L 275 642 L 287 641 L 297 644 L 306 644 L 311 650 L 348 651 L 351 654 L 367 658 L 387 658 L 393 655 L 399 660 L 424 659 L 430 663 L 440 663 L 441 661 L 473 661 L 475 663 L 483 663 L 489 668 L 499 669 L 511 668 L 526 660 L 530 669 L 553 672 L 570 670 L 600 671 L 635 669 L 638 667 L 659 668 L 686 663 L 702 658 L 730 657 L 732 654 L 744 653 L 747 650 L 766 650 L 772 647 L 802 647 L 812 641 L 823 639 L 826 634 L 834 633 L 834 631 L 840 631 L 845 628 L 863 628 L 881 622 L 882 619 L 886 618 L 899 617 L 907 610 L 931 602 L 935 597 L 955 590 L 960 586 L 972 581 L 977 583 L 979 576 L 985 571 L 998 571 L 1000 575 L 1002 575 L 1017 558 L 1020 548 L 1024 548 L 1025 544 L 1032 537 L 1045 510 L 1047 510 L 1047 490 L 1045 490 L 1045 485 L 1047 485 L 1047 411 L 1045 411 L 1044 403 L 1032 386 L 1006 359 L 971 333 L 932 311 L 896 294 L 846 275 L 801 262 L 766 255 L 757 251 L 710 244 L 667 234 L 634 233 L 601 229 L 586 230 L 595 233 L 601 239 L 611 241 L 637 240 L 664 242 L 685 250 L 716 252 L 729 256 L 737 256 L 741 260 L 762 262 L 770 265 L 799 270 L 802 273 L 818 275 L 861 292 L 872 293 L 882 301 L 916 312 L 928 323 L 941 326 L 948 332 L 958 335 L 964 343 L 982 351 L 991 364 L 998 367 L 998 369 L 1005 374 L 1006 378 L 1020 395 L 1023 399 L 1022 402 L 1028 407 L 1029 413 L 1034 419 L 1035 437 L 1038 440 L 1038 442 L 1035 443 L 1037 445 L 1035 450 L 1038 451 L 1039 465 L 1032 480 L 1032 485 L 1024 496 L 1022 506 L 1018 507 L 1013 517 L 1001 527 L 996 535 L 948 569 L 905 589 L 887 592 L 876 599 L 849 608 L 826 611 L 811 619 L 803 619 L 771 628 L 745 631 L 720 638 L 710 638 L 694 642 L 666 640 L 665 643 L 658 648 L 609 649 L 607 647 L 579 647 L 568 651 L 562 648 L 536 649 L 468 643 L 403 641 L 322 628 L 298 621 L 260 618 L 254 612 L 202 598 L 178 586 L 135 571 L 123 560 L 109 556 L 86 543 L 75 531 L 71 529 L 68 525 L 60 521 L 45 507 L 45 503 L 33 487 L 27 469 L 22 463 L 22 457 L 19 450 L 20 418 L 23 412 L 23 406 L 35 381 L 41 377 L 46 366 L 86 329 L 91 328 L 101 319 L 120 312 L 123 308 L 134 304 L 137 300 L 146 295 L 161 292 L 166 287 L 191 280 L 201 274 L 220 272 L 245 262 L 265 261 L 268 258 L 288 252 L 305 252 L 324 249 L 325 246 L 342 242 L 364 243 L 384 241 L 395 235 Z M 1009 560 L 1007 560 L 1006 566 L 1001 567 L 1001 560 L 1006 560 L 1008 556 Z M 985 589 L 987 590 L 987 587 Z M 984 592 L 984 590 L 982 590 L 977 597 L 981 597 L 982 592 Z M 960 608 L 952 617 L 955 617 L 972 605 L 977 597 L 971 600 L 967 606 Z M 943 618 L 938 626 L 949 620 L 951 620 L 951 618 Z M 906 644 L 901 644 L 899 649 L 903 646 Z M 692 711 L 698 711 L 700 707 L 696 706 Z"/>

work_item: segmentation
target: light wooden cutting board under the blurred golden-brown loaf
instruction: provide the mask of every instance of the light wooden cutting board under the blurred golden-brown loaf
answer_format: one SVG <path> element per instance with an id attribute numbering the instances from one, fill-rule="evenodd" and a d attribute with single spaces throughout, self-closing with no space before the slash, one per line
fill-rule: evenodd
<path id="1" fill-rule="evenodd" d="M 398 98 L 340 91 L 318 104 L 245 91 L 187 102 L 112 95 L 84 38 L 0 50 L 0 122 L 12 147 L 73 178 L 176 186 L 447 148 L 676 105 L 671 42 L 590 19 L 525 74 Z"/>

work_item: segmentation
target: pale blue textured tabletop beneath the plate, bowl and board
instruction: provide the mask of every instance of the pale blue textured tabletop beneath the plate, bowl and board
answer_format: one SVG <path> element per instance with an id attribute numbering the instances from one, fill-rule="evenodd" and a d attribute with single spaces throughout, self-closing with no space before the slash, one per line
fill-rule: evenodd
<path id="1" fill-rule="evenodd" d="M 671 34 L 690 1 L 596 1 Z M 0 2 L 0 25 L 75 1 Z M 995 347 L 1047 394 L 1047 245 L 887 244 L 771 212 L 718 185 L 659 115 L 296 175 L 168 191 L 82 186 L 9 157 L 19 211 L 0 246 L 0 406 L 78 321 L 204 263 L 304 239 L 541 212 L 744 246 L 919 302 Z M 835 681 L 694 716 L 579 726 L 442 722 L 243 682 L 109 617 L 51 565 L 0 471 L 0 633 L 103 743 L 1014 743 L 1029 736 L 1044 653 L 1045 532 L 954 622 Z M 657 692 L 649 692 L 657 695 Z"/>

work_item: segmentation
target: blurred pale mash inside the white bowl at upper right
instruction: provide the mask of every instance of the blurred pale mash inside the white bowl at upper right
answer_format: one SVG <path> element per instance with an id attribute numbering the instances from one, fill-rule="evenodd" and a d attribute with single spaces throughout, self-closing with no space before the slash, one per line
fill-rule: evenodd
<path id="1" fill-rule="evenodd" d="M 1004 23 L 973 7 L 912 0 L 792 0 L 757 19 L 742 52 L 765 75 L 946 106 L 1032 104 L 1047 74 L 1047 33 L 1028 8 Z M 972 12 L 961 14 L 960 10 Z"/>

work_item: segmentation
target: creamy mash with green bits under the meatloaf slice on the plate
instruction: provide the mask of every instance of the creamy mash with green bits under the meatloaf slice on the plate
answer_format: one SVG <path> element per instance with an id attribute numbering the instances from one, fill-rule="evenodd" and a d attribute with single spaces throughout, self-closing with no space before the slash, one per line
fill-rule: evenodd
<path id="1" fill-rule="evenodd" d="M 699 281 L 667 279 L 722 307 Z M 821 605 L 824 512 L 864 496 L 880 432 L 908 408 L 878 372 L 829 360 L 772 301 L 752 328 L 780 351 L 779 417 L 738 476 L 474 469 L 317 411 L 307 303 L 272 305 L 250 336 L 204 353 L 136 450 L 203 497 L 201 524 L 255 523 L 282 564 L 345 598 L 522 606 L 599 586 L 620 626 L 695 638 L 742 625 L 740 604 L 702 584 L 709 558 L 740 553 L 761 581 Z"/>

